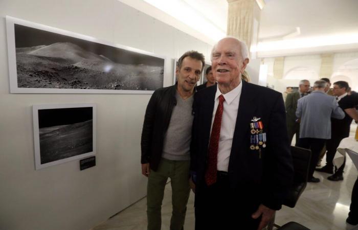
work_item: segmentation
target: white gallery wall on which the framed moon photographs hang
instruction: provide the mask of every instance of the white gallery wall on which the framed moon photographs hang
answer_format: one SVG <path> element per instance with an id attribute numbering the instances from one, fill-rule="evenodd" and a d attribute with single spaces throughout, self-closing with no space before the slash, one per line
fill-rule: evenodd
<path id="1" fill-rule="evenodd" d="M 0 1 L 0 229 L 89 229 L 146 195 L 140 137 L 150 95 L 10 94 L 5 16 L 172 58 L 211 45 L 117 0 Z M 32 105 L 97 104 L 96 166 L 79 161 L 35 170 Z"/>

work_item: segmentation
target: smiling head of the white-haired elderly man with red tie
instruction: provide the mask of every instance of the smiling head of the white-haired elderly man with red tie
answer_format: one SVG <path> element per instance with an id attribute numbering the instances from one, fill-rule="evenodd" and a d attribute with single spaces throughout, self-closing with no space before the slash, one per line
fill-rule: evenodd
<path id="1" fill-rule="evenodd" d="M 243 60 L 240 43 L 235 38 L 224 38 L 215 45 L 211 62 L 217 83 L 235 88 L 240 84 L 241 74 L 249 63 L 249 59 Z"/>

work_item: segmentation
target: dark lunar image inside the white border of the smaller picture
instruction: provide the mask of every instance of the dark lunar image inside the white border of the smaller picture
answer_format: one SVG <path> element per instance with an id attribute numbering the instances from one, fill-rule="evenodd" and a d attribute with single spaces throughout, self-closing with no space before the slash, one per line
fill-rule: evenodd
<path id="1" fill-rule="evenodd" d="M 93 107 L 38 110 L 41 165 L 93 152 Z"/>

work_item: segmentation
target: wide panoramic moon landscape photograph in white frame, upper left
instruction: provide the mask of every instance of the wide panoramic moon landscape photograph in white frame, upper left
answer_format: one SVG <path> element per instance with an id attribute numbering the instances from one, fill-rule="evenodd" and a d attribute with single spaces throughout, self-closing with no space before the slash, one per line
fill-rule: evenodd
<path id="1" fill-rule="evenodd" d="M 7 17 L 11 93 L 150 94 L 165 58 Z"/>

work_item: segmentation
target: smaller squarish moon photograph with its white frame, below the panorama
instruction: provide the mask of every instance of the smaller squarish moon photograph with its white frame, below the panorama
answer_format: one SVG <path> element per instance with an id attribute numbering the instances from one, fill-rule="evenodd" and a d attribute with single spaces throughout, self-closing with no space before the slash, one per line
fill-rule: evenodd
<path id="1" fill-rule="evenodd" d="M 94 104 L 34 105 L 36 169 L 95 154 Z"/>

